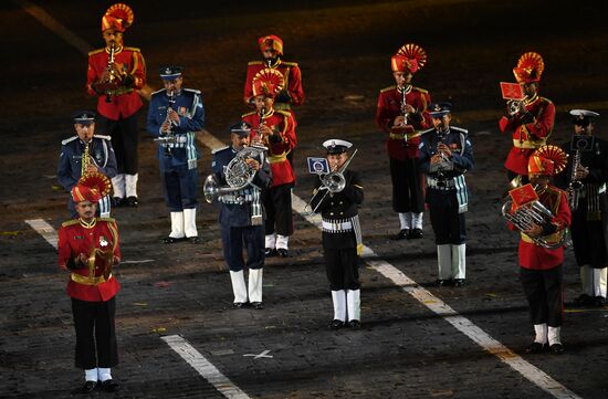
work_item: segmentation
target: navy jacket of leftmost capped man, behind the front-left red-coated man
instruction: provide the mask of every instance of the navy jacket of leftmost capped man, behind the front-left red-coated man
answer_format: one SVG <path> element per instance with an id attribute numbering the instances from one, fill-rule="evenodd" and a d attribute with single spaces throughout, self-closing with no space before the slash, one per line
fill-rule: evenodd
<path id="1" fill-rule="evenodd" d="M 78 136 L 61 141 L 57 180 L 66 190 L 76 186 L 81 178 L 83 153 L 84 143 L 78 139 Z M 88 155 L 99 172 L 111 179 L 116 176 L 116 156 L 109 136 L 93 135 L 93 139 L 88 144 Z"/>

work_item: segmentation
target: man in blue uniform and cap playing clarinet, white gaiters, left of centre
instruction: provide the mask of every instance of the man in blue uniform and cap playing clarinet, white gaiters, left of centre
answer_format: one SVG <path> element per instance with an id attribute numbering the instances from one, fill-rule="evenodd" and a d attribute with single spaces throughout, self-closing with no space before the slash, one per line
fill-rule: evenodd
<path id="1" fill-rule="evenodd" d="M 166 244 L 200 242 L 196 217 L 200 155 L 195 132 L 205 126 L 205 108 L 198 90 L 182 88 L 181 71 L 180 66 L 159 70 L 165 88 L 153 93 L 147 118 L 148 133 L 159 141 L 157 158 L 171 216 Z"/>

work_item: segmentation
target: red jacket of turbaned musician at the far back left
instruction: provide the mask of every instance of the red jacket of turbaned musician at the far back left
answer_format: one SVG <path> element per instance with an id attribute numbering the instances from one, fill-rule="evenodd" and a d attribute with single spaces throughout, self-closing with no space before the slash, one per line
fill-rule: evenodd
<path id="1" fill-rule="evenodd" d="M 86 72 L 86 91 L 90 95 L 98 96 L 97 112 L 112 120 L 129 117 L 141 107 L 141 98 L 137 90 L 146 84 L 146 63 L 139 49 L 123 48 L 114 54 L 114 62 L 123 65 L 127 77 L 127 84 L 119 86 L 111 96 L 112 102 L 106 103 L 105 93 L 96 93 L 93 83 L 97 82 L 107 69 L 108 53 L 105 49 L 88 53 L 88 71 Z"/>

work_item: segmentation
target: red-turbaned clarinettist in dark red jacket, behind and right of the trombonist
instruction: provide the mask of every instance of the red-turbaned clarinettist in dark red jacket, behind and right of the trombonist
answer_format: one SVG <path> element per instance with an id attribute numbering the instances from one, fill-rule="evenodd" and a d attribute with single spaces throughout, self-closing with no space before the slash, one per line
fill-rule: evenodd
<path id="1" fill-rule="evenodd" d="M 427 107 L 429 92 L 411 84 L 427 62 L 417 44 L 406 44 L 390 59 L 396 85 L 378 95 L 376 125 L 388 133 L 386 140 L 392 181 L 392 209 L 399 214 L 399 232 L 392 240 L 422 238 L 422 175 L 416 165 L 420 130 L 431 127 Z"/>

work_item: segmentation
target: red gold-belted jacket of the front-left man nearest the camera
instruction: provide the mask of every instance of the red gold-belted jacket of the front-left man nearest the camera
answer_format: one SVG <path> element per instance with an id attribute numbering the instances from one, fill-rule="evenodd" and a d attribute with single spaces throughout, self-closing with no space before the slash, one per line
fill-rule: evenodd
<path id="1" fill-rule="evenodd" d="M 105 244 L 105 245 L 104 245 Z M 118 230 L 112 218 L 97 218 L 93 228 L 83 227 L 77 219 L 64 222 L 59 230 L 59 259 L 61 269 L 67 270 L 70 259 L 84 253 L 87 258 L 93 249 L 113 252 L 120 258 L 118 246 Z M 112 249 L 114 248 L 114 251 Z M 103 261 L 95 256 L 95 267 L 75 269 L 71 271 L 67 282 L 67 295 L 88 302 L 106 302 L 120 290 L 120 284 L 114 276 L 107 281 L 103 277 Z"/>

